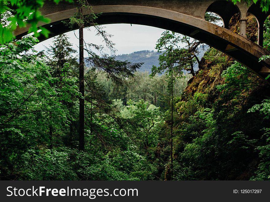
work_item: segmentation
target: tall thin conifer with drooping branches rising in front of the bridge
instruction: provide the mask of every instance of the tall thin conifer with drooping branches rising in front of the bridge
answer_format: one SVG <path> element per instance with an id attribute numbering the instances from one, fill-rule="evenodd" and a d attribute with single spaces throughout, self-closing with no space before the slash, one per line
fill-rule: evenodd
<path id="1" fill-rule="evenodd" d="M 85 86 L 86 83 L 88 88 L 90 89 L 91 94 L 98 95 L 99 92 L 92 92 L 92 86 L 90 84 L 95 85 L 95 80 L 91 80 L 95 78 L 95 76 L 87 76 L 86 78 L 90 78 L 90 81 L 87 81 L 85 78 L 85 71 L 86 74 L 96 74 L 97 72 L 102 72 L 106 75 L 107 79 L 111 79 L 114 85 L 114 89 L 118 90 L 121 87 L 126 85 L 126 78 L 133 77 L 133 73 L 136 69 L 140 68 L 142 63 L 132 64 L 128 61 L 118 61 L 115 60 L 114 56 L 109 56 L 108 54 L 102 52 L 104 46 L 96 45 L 93 43 L 86 43 L 83 40 L 83 28 L 84 27 L 94 27 L 96 30 L 96 35 L 100 36 L 105 42 L 106 47 L 111 51 L 113 54 L 114 43 L 109 39 L 111 37 L 106 31 L 103 30 L 102 26 L 99 26 L 95 20 L 98 17 L 93 10 L 92 6 L 85 0 L 79 0 L 79 7 L 78 12 L 74 14 L 73 17 L 69 19 L 67 24 L 71 27 L 79 28 L 79 92 L 81 93 L 81 97 L 79 98 L 79 150 L 84 150 L 85 147 Z M 87 10 L 88 15 L 83 15 L 83 10 Z M 94 50 L 93 50 L 94 49 Z M 84 57 L 83 52 L 87 52 L 88 57 Z M 96 52 L 99 52 L 98 55 Z M 86 61 L 86 62 L 85 62 Z M 89 93 L 89 92 L 88 92 Z M 91 103 L 91 124 L 90 130 L 92 134 L 92 107 L 95 103 L 93 101 L 93 96 L 90 96 L 90 103 Z M 95 96 L 95 97 L 100 97 Z M 100 99 L 99 99 L 100 101 Z M 106 102 L 103 102 L 106 103 Z M 109 103 L 106 103 L 106 105 Z M 105 109 L 111 108 L 109 105 L 107 107 L 102 106 Z M 102 109 L 103 110 L 103 109 Z M 108 111 L 106 113 L 109 113 Z M 113 116 L 112 114 L 110 114 Z M 114 118 L 118 120 L 119 124 L 122 124 L 122 121 L 119 121 L 118 117 Z"/>

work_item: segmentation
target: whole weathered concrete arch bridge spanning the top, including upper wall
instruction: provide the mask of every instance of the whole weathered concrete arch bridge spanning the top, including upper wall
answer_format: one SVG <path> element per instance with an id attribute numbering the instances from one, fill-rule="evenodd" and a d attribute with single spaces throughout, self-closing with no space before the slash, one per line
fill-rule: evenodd
<path id="1" fill-rule="evenodd" d="M 179 32 L 226 53 L 262 78 L 270 73 L 269 62 L 258 62 L 262 55 L 269 54 L 266 50 L 249 41 L 245 36 L 204 20 L 206 11 L 216 12 L 225 19 L 225 14 L 228 14 L 226 18 L 230 18 L 230 15 L 238 10 L 241 18 L 246 18 L 249 7 L 244 3 L 234 6 L 230 2 L 213 0 L 98 0 L 89 2 L 93 5 L 95 13 L 102 13 L 98 18 L 100 24 L 131 23 Z M 218 7 L 221 4 L 226 12 Z M 253 13 L 259 14 L 256 6 L 253 5 L 251 8 Z M 52 37 L 70 31 L 61 21 L 70 18 L 76 12 L 76 5 L 65 2 L 55 5 L 50 1 L 44 4 L 41 12 L 51 19 L 50 24 L 41 25 L 52 32 L 50 35 Z M 264 17 L 262 15 L 260 20 L 266 14 Z M 27 28 L 18 29 L 15 35 L 20 37 L 27 31 Z M 245 33 L 245 30 L 242 30 L 242 33 Z"/>

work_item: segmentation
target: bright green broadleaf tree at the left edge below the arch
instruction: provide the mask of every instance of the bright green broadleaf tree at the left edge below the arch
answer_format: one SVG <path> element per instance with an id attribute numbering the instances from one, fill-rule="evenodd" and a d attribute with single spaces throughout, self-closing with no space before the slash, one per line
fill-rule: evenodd
<path id="1" fill-rule="evenodd" d="M 61 74 L 63 86 L 54 86 L 57 79 L 50 67 L 37 55 L 25 53 L 37 42 L 29 37 L 2 45 L 0 53 L 1 80 L 1 170 L 2 176 L 21 173 L 20 163 L 29 148 L 38 150 L 49 142 L 48 129 L 56 133 L 72 119 L 63 102 L 78 96 L 76 80 Z M 67 64 L 65 68 L 67 68 Z M 31 124 L 29 124 L 31 122 Z M 15 139 L 14 139 L 15 138 Z M 13 142 L 9 144 L 8 142 Z M 4 156 L 3 156 L 4 155 Z M 21 174 L 13 177 L 21 178 Z"/>

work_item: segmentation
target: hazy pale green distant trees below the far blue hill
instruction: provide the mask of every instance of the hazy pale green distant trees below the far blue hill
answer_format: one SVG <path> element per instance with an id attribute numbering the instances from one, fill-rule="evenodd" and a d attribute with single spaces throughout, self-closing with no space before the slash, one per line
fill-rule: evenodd
<path id="1" fill-rule="evenodd" d="M 187 86 L 189 75 L 184 78 L 176 78 L 174 84 L 174 95 L 180 96 Z M 143 99 L 149 104 L 160 107 L 162 111 L 168 109 L 168 91 L 166 75 L 155 75 L 149 77 L 148 73 L 135 72 L 133 78 L 126 79 L 126 87 L 116 91 L 112 81 L 106 75 L 99 73 L 97 80 L 103 86 L 107 96 L 113 99 L 121 99 L 123 105 L 127 105 L 128 100 L 139 101 Z"/>

